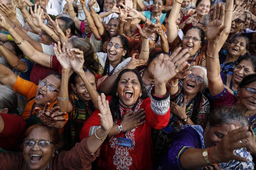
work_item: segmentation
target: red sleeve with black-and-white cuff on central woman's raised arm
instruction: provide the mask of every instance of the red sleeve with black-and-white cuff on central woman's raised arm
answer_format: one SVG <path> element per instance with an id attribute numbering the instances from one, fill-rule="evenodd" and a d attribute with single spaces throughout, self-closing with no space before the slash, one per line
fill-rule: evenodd
<path id="1" fill-rule="evenodd" d="M 170 119 L 170 94 L 167 91 L 164 97 L 154 96 L 153 87 L 151 90 L 151 98 L 145 99 L 143 105 L 145 106 L 146 122 L 155 129 L 164 128 Z"/>

